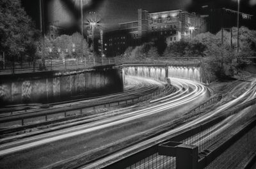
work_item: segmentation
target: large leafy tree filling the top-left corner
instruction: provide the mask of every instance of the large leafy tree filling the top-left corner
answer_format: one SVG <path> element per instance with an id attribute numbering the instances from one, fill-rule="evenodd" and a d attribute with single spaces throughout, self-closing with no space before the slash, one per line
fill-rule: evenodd
<path id="1" fill-rule="evenodd" d="M 33 57 L 36 52 L 35 41 L 40 32 L 21 6 L 20 0 L 0 1 L 0 48 L 15 60 L 22 55 Z"/>

